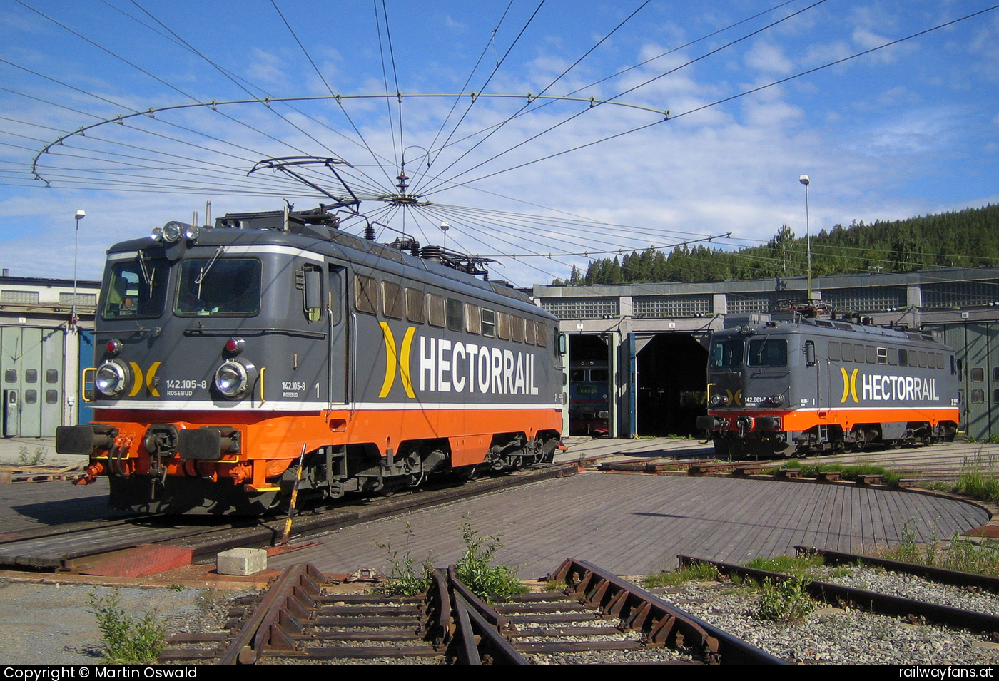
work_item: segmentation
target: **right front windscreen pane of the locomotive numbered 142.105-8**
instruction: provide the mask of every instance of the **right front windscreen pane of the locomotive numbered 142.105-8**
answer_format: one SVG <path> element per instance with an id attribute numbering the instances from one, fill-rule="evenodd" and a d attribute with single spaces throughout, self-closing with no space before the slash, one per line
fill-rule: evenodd
<path id="1" fill-rule="evenodd" d="M 260 312 L 260 261 L 206 258 L 181 263 L 178 317 L 251 317 Z"/>

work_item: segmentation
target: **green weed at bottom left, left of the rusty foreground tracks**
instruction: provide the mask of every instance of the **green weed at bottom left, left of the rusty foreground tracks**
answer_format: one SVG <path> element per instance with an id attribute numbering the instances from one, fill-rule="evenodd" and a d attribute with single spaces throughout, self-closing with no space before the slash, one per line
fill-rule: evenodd
<path id="1" fill-rule="evenodd" d="M 166 630 L 156 615 L 147 612 L 135 619 L 121 608 L 121 594 L 98 596 L 90 592 L 90 611 L 104 632 L 104 653 L 111 664 L 151 664 L 166 646 Z"/>

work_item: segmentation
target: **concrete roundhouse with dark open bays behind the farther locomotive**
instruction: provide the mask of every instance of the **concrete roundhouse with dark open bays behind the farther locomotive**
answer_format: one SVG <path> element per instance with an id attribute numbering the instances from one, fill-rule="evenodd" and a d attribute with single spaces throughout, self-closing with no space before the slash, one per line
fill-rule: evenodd
<path id="1" fill-rule="evenodd" d="M 696 434 L 711 333 L 790 319 L 784 311 L 807 300 L 807 286 L 804 277 L 535 286 L 534 302 L 567 340 L 567 432 Z M 964 367 L 961 429 L 999 435 L 999 268 L 833 275 L 813 278 L 812 288 L 837 317 L 939 334 Z"/>

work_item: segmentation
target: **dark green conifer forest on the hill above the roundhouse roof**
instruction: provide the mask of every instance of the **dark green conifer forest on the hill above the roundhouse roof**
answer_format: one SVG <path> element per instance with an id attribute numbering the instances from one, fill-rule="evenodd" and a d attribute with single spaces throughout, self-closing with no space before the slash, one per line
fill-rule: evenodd
<path id="1" fill-rule="evenodd" d="M 999 206 L 870 225 L 854 221 L 822 230 L 811 242 L 816 277 L 999 265 Z M 785 225 L 765 246 L 633 251 L 593 260 L 585 273 L 573 267 L 567 281 L 556 279 L 552 286 L 768 279 L 803 276 L 806 269 L 805 237 Z"/>

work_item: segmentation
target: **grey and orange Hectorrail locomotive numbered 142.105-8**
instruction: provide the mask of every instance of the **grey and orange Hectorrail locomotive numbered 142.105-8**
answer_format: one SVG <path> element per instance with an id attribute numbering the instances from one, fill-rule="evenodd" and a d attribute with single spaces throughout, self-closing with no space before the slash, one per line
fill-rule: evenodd
<path id="1" fill-rule="evenodd" d="M 296 478 L 340 498 L 550 460 L 556 325 L 526 297 L 336 230 L 227 220 L 109 251 L 95 422 L 57 450 L 89 454 L 112 505 L 260 513 Z"/>

